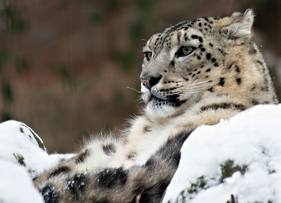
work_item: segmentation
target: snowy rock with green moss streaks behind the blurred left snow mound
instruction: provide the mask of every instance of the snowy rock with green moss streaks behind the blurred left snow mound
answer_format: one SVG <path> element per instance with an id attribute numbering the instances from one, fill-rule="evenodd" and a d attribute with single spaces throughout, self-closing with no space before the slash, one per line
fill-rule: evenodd
<path id="1" fill-rule="evenodd" d="M 32 178 L 72 156 L 48 155 L 41 138 L 24 123 L 6 121 L 0 124 L 0 160 L 20 163 Z"/>

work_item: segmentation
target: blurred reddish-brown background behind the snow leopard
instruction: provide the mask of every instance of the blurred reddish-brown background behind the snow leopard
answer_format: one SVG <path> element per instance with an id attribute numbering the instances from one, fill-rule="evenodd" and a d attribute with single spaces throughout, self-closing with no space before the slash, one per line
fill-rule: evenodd
<path id="1" fill-rule="evenodd" d="M 141 48 L 183 20 L 253 8 L 254 41 L 281 95 L 280 0 L 0 0 L 0 115 L 30 126 L 49 152 L 137 113 Z"/>

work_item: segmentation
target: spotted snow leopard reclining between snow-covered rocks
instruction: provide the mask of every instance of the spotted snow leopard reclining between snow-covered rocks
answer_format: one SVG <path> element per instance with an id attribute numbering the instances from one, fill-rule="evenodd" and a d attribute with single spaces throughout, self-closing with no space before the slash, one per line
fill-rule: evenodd
<path id="1" fill-rule="evenodd" d="M 253 20 L 248 9 L 179 22 L 150 37 L 143 47 L 141 115 L 122 139 L 90 141 L 36 177 L 45 202 L 160 202 L 181 146 L 195 128 L 255 105 L 278 104 L 266 63 L 251 40 Z"/>

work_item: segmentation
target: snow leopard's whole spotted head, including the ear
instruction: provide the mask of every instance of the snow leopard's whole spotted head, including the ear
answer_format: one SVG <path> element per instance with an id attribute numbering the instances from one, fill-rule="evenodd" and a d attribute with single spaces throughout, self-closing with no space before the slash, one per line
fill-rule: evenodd
<path id="1" fill-rule="evenodd" d="M 241 91 L 256 101 L 251 88 L 259 82 L 253 80 L 253 87 L 244 83 L 251 83 L 254 68 L 264 68 L 255 60 L 260 55 L 250 41 L 252 23 L 251 12 L 235 12 L 231 17 L 180 22 L 154 34 L 143 47 L 140 77 L 147 115 L 177 116 L 206 97 L 239 98 Z M 269 80 L 260 81 L 255 91 L 270 87 Z"/>

